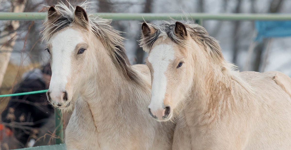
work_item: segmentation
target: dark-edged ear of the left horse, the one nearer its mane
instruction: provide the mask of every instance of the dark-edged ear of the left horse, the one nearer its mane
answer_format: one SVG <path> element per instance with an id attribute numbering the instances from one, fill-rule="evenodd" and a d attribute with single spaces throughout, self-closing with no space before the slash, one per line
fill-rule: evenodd
<path id="1" fill-rule="evenodd" d="M 74 13 L 74 21 L 77 22 L 82 27 L 88 27 L 89 22 L 88 22 L 87 13 L 80 6 L 76 6 L 76 10 Z"/>

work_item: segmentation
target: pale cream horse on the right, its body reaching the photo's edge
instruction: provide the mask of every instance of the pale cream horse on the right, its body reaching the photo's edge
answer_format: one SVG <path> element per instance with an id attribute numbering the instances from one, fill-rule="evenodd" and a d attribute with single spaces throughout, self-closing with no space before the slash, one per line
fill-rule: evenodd
<path id="1" fill-rule="evenodd" d="M 270 71 L 238 72 L 198 24 L 143 23 L 140 45 L 152 76 L 149 112 L 171 119 L 183 103 L 173 150 L 291 148 L 291 79 Z"/>

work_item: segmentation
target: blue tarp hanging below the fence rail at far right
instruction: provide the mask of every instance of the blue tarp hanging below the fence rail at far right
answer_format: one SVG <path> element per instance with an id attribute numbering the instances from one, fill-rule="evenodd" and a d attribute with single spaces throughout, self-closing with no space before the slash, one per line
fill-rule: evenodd
<path id="1" fill-rule="evenodd" d="M 255 21 L 258 34 L 255 41 L 263 38 L 291 36 L 291 21 Z"/>

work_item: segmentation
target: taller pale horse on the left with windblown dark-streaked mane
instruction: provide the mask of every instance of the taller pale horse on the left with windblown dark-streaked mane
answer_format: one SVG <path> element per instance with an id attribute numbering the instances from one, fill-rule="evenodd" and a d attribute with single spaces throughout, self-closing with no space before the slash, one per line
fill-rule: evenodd
<path id="1" fill-rule="evenodd" d="M 169 150 L 174 122 L 148 114 L 150 72 L 129 64 L 120 32 L 110 20 L 77 6 L 50 7 L 42 32 L 51 55 L 49 102 L 72 110 L 67 150 Z"/>

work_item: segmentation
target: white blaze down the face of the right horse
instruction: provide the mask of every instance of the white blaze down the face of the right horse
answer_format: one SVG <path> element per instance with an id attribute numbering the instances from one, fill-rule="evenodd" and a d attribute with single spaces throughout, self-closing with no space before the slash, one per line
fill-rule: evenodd
<path id="1" fill-rule="evenodd" d="M 157 111 L 164 106 L 167 78 L 165 72 L 169 63 L 174 60 L 174 49 L 172 45 L 161 44 L 155 46 L 148 56 L 148 62 L 153 68 L 152 97 L 150 105 L 151 111 Z"/>

